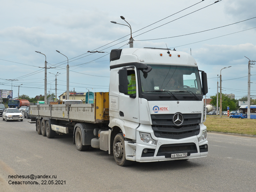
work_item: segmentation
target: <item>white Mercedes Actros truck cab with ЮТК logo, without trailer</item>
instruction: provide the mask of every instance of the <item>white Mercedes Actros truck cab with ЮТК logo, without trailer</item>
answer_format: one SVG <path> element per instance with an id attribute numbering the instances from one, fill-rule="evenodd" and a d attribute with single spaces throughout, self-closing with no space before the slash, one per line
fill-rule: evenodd
<path id="1" fill-rule="evenodd" d="M 195 59 L 185 52 L 113 49 L 109 127 L 116 163 L 125 166 L 131 161 L 207 156 L 203 124 L 207 89 L 206 73 L 198 70 Z"/>

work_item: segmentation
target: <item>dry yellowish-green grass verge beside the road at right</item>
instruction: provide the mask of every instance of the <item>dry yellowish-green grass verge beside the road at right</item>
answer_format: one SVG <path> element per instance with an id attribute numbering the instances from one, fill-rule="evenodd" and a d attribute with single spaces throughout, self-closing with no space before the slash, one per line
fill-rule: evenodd
<path id="1" fill-rule="evenodd" d="M 237 119 L 207 115 L 207 131 L 256 135 L 256 119 Z"/>

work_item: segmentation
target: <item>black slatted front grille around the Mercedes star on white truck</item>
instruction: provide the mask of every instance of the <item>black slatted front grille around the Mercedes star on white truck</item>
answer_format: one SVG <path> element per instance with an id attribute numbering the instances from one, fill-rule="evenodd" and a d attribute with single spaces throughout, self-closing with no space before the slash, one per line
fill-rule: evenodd
<path id="1" fill-rule="evenodd" d="M 152 129 L 156 137 L 181 139 L 200 132 L 201 113 L 183 114 L 184 122 L 181 126 L 173 123 L 174 114 L 153 114 Z"/>

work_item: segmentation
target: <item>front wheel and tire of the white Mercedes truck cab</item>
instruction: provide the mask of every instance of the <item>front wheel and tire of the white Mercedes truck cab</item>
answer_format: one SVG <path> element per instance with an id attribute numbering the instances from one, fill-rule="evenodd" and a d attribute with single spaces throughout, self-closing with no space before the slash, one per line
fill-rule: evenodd
<path id="1" fill-rule="evenodd" d="M 115 162 L 118 165 L 129 166 L 132 164 L 132 161 L 129 161 L 125 158 L 124 137 L 122 133 L 119 133 L 115 136 L 113 143 L 113 153 Z"/>

